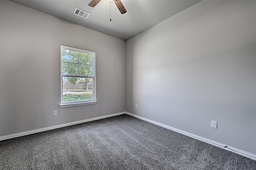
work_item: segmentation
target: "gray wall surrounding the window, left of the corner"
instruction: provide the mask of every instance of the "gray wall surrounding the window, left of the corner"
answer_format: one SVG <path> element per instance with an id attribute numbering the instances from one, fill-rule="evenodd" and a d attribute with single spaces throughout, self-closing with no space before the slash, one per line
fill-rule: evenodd
<path id="1" fill-rule="evenodd" d="M 125 111 L 125 41 L 10 1 L 0 16 L 1 136 Z M 59 108 L 60 45 L 96 53 L 98 104 Z"/>

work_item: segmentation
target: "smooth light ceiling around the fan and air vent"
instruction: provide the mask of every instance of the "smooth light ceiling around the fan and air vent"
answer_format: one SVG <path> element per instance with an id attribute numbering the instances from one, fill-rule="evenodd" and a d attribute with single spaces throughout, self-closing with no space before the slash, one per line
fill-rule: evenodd
<path id="1" fill-rule="evenodd" d="M 111 2 L 101 0 L 94 8 L 90 0 L 11 0 L 18 4 L 62 18 L 67 21 L 127 40 L 138 33 L 178 14 L 200 0 L 122 0 L 127 12 L 121 14 Z M 73 14 L 75 8 L 88 13 L 87 19 Z"/>

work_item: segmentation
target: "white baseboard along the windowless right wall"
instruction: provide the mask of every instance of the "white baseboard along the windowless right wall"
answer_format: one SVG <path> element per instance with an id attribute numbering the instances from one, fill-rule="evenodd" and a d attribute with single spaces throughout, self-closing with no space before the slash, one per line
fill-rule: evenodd
<path id="1" fill-rule="evenodd" d="M 146 119 L 146 118 L 144 118 L 144 117 L 141 117 L 141 116 L 138 116 L 138 115 L 134 115 L 134 114 L 129 113 L 129 112 L 127 112 L 127 111 L 126 111 L 125 113 L 126 113 L 127 115 L 132 116 L 132 117 L 136 117 L 136 118 L 138 118 L 138 119 L 142 119 L 142 120 L 144 120 L 144 121 L 153 123 L 153 124 L 158 125 L 158 126 L 160 126 L 160 127 L 164 127 L 164 128 L 166 128 L 166 129 L 170 129 L 171 131 L 180 133 L 180 134 L 182 134 L 182 135 L 186 135 L 186 136 L 188 136 L 188 137 L 192 137 L 192 138 L 194 138 L 194 139 L 197 139 L 197 140 L 199 140 L 199 141 L 208 143 L 208 144 L 210 144 L 210 145 L 214 145 L 214 146 L 216 146 L 216 147 L 219 147 L 219 148 L 228 150 L 228 151 L 230 151 L 230 152 L 234 152 L 234 153 L 236 153 L 236 154 L 240 154 L 240 155 L 245 156 L 245 157 L 247 157 L 247 158 L 256 160 L 256 154 L 252 154 L 252 153 L 246 152 L 246 151 L 244 151 L 244 150 L 236 149 L 236 148 L 234 148 L 234 147 L 230 147 L 230 146 L 224 145 L 224 144 L 222 144 L 222 143 L 218 143 L 218 142 L 216 142 L 216 141 L 212 141 L 212 140 L 210 140 L 210 139 L 206 139 L 206 138 L 204 138 L 204 137 L 200 137 L 200 136 L 194 135 L 194 134 L 192 134 L 192 133 L 188 133 L 188 132 L 182 131 L 182 130 L 180 130 L 180 129 L 176 129 L 176 128 L 174 128 L 174 127 L 170 127 L 170 126 L 164 125 L 164 124 L 162 124 L 162 123 L 158 123 L 158 122 L 156 122 L 156 121 L 152 121 L 152 120 L 150 120 L 150 119 Z"/>

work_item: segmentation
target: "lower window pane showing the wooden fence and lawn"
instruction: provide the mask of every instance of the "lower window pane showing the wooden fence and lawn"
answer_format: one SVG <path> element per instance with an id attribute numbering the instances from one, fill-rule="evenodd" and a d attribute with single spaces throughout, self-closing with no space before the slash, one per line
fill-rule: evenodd
<path id="1" fill-rule="evenodd" d="M 92 78 L 63 77 L 63 102 L 92 100 Z"/>

